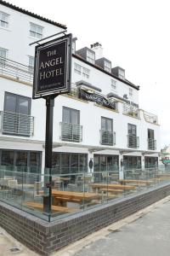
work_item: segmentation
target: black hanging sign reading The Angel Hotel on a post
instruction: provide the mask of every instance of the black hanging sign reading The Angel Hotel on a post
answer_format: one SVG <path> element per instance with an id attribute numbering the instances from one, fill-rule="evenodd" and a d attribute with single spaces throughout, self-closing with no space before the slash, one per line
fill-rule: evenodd
<path id="1" fill-rule="evenodd" d="M 33 98 L 70 91 L 71 34 L 37 45 Z"/>

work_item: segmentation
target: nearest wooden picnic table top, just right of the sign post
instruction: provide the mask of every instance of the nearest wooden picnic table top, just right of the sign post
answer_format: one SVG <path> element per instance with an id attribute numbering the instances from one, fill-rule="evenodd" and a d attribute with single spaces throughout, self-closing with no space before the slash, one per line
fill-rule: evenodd
<path id="1" fill-rule="evenodd" d="M 92 201 L 99 199 L 99 195 L 96 193 L 88 192 L 73 192 L 73 191 L 62 191 L 52 189 L 52 201 L 54 205 L 65 206 L 67 202 L 83 203 L 84 201 Z"/>

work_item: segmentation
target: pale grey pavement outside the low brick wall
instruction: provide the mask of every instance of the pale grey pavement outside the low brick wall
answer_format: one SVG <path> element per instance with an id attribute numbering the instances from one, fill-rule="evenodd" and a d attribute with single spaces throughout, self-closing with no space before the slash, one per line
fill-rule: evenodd
<path id="1" fill-rule="evenodd" d="M 51 256 L 170 256 L 169 240 L 170 196 L 167 196 L 150 207 L 71 243 Z M 12 255 L 39 254 L 0 228 L 0 256 Z"/>

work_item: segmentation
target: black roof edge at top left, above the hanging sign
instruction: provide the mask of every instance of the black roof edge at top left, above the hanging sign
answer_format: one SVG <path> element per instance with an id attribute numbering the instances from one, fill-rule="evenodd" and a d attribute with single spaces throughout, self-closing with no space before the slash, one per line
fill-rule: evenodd
<path id="1" fill-rule="evenodd" d="M 29 15 L 29 16 L 31 16 L 31 17 L 34 17 L 34 18 L 38 19 L 38 20 L 42 20 L 42 21 L 48 22 L 48 23 L 50 23 L 50 24 L 52 24 L 52 25 L 54 25 L 54 26 L 59 26 L 59 27 L 64 28 L 64 29 L 67 28 L 67 27 L 66 27 L 65 25 L 63 25 L 63 24 L 60 24 L 60 23 L 55 22 L 55 21 L 53 21 L 53 20 L 48 20 L 47 18 L 44 18 L 44 17 L 42 17 L 42 16 L 40 16 L 40 15 L 36 15 L 36 14 L 34 14 L 34 13 L 31 13 L 30 11 L 27 11 L 26 9 L 22 9 L 22 8 L 20 8 L 20 7 L 17 7 L 17 6 L 15 6 L 14 4 L 7 3 L 7 2 L 2 1 L 2 0 L 0 0 L 0 4 L 3 4 L 4 6 L 10 8 L 10 9 L 14 9 L 14 10 L 16 10 L 16 11 L 19 11 L 19 12 L 22 13 L 22 14 Z"/>

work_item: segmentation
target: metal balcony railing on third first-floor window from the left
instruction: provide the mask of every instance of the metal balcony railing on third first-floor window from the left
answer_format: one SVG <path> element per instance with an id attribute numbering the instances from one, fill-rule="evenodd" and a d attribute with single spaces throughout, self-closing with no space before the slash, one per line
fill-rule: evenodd
<path id="1" fill-rule="evenodd" d="M 116 144 L 116 132 L 100 130 L 100 144 L 113 146 Z"/>

